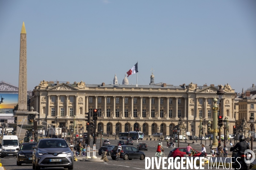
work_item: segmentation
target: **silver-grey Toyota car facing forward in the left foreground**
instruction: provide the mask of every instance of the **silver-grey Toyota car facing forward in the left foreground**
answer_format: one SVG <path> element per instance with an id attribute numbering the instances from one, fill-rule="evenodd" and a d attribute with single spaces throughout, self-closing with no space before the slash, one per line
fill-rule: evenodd
<path id="1" fill-rule="evenodd" d="M 41 139 L 36 147 L 32 147 L 33 170 L 40 170 L 41 167 L 64 167 L 73 170 L 74 159 L 70 147 L 64 139 Z"/>

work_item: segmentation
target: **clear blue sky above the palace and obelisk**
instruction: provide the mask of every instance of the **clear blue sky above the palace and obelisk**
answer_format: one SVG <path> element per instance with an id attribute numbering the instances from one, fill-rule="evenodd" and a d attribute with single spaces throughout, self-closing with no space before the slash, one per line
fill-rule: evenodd
<path id="1" fill-rule="evenodd" d="M 0 80 L 18 85 L 20 31 L 27 79 L 122 84 L 256 83 L 255 0 L 0 0 Z M 136 84 L 136 76 L 128 77 Z"/>

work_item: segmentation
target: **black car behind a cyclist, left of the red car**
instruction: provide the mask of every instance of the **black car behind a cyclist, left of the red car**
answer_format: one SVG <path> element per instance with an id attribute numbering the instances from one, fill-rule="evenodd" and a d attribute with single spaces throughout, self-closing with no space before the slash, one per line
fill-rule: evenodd
<path id="1" fill-rule="evenodd" d="M 124 160 L 131 160 L 131 159 L 144 160 L 145 159 L 145 153 L 141 152 L 140 150 L 137 150 L 135 147 L 126 146 L 126 145 L 121 145 L 121 146 L 122 146 L 122 150 L 120 153 L 120 158 Z M 113 160 L 116 159 L 116 150 L 117 150 L 117 146 L 115 146 L 111 151 L 111 158 Z"/>

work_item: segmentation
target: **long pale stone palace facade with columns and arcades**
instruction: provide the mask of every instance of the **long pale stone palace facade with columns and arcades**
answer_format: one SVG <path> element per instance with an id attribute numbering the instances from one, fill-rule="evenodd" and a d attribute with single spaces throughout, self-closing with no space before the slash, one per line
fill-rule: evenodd
<path id="1" fill-rule="evenodd" d="M 218 96 L 217 90 L 218 86 L 198 86 L 192 82 L 189 85 L 178 86 L 159 83 L 136 87 L 116 83 L 90 85 L 82 81 L 42 81 L 33 90 L 30 105 L 35 108 L 34 111 L 40 113 L 37 117 L 40 124 L 47 121 L 55 127 L 69 127 L 74 120 L 75 124 L 85 127 L 84 113 L 89 112 L 92 115 L 93 108 L 98 108 L 97 129 L 99 131 L 102 128 L 106 134 L 118 134 L 138 128 L 145 135 L 158 131 L 164 135 L 172 135 L 172 128 L 181 118 L 186 131 L 191 132 L 194 128 L 195 135 L 198 136 L 200 117 L 203 118 L 205 129 L 209 120 L 214 123 L 212 105 L 213 98 Z M 221 109 L 232 127 L 235 125 L 236 94 L 230 86 L 224 87 L 224 91 L 224 104 L 221 105 Z"/>

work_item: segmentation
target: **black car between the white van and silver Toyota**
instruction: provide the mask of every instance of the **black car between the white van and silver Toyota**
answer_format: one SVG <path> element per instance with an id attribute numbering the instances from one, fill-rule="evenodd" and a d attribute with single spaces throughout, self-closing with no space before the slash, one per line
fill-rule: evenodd
<path id="1" fill-rule="evenodd" d="M 17 148 L 17 166 L 21 164 L 32 164 L 32 146 L 37 145 L 37 143 L 23 143 L 20 148 Z"/>

